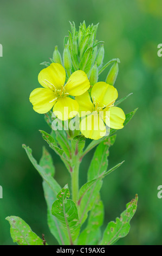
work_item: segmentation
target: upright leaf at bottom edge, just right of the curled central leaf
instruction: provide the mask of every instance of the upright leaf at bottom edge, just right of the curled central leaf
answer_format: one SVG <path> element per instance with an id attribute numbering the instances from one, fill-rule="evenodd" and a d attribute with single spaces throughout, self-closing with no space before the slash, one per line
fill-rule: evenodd
<path id="1" fill-rule="evenodd" d="M 90 211 L 87 227 L 80 234 L 77 244 L 97 245 L 99 240 L 101 239 L 100 227 L 102 224 L 103 203 L 100 198 L 97 198 L 92 210 Z"/>

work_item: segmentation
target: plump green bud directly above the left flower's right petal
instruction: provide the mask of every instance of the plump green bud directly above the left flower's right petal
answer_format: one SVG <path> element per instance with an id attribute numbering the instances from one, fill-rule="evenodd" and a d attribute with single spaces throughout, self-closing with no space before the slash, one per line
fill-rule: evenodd
<path id="1" fill-rule="evenodd" d="M 79 69 L 85 71 L 86 74 L 88 74 L 92 65 L 92 51 L 92 47 L 86 50 L 79 65 Z"/>

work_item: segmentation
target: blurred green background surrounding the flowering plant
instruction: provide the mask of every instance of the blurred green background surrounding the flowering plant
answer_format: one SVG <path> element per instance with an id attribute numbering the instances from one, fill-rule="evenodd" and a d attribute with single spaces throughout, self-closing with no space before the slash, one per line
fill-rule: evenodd
<path id="1" fill-rule="evenodd" d="M 63 50 L 63 38 L 70 29 L 68 21 L 86 24 L 100 22 L 97 39 L 105 41 L 105 62 L 120 58 L 115 86 L 119 98 L 133 93 L 121 107 L 126 113 L 139 107 L 132 121 L 118 132 L 110 150 L 109 167 L 126 162 L 109 175 L 101 190 L 105 205 L 105 225 L 125 210 L 125 205 L 139 195 L 138 210 L 131 230 L 121 245 L 161 245 L 162 199 L 157 187 L 162 185 L 161 166 L 161 88 L 162 58 L 157 46 L 162 41 L 162 4 L 159 0 L 28 0 L 1 1 L 0 43 L 0 245 L 12 245 L 9 223 L 5 217 L 23 218 L 33 231 L 45 234 L 50 244 L 55 239 L 46 224 L 46 203 L 42 180 L 28 160 L 22 143 L 33 149 L 37 160 L 42 146 L 39 129 L 49 132 L 41 114 L 33 111 L 30 92 L 38 87 L 40 65 L 52 56 L 54 46 Z M 108 70 L 100 80 L 105 80 Z M 51 150 L 49 150 L 51 152 Z M 69 174 L 54 154 L 57 181 L 64 186 Z M 83 160 L 80 185 L 92 153 Z"/>

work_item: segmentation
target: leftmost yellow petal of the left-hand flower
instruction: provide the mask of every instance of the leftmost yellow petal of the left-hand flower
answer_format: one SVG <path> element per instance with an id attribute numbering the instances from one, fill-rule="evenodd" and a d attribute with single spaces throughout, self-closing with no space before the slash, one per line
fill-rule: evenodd
<path id="1" fill-rule="evenodd" d="M 54 106 L 57 98 L 55 93 L 46 88 L 36 88 L 29 97 L 33 109 L 40 114 L 47 113 Z"/>

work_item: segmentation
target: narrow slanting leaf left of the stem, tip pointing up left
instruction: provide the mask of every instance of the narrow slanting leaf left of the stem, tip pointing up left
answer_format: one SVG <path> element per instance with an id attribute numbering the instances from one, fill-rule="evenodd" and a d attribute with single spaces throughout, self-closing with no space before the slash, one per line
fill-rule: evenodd
<path id="1" fill-rule="evenodd" d="M 55 193 L 55 195 L 60 191 L 61 187 L 57 183 L 57 181 L 47 172 L 46 169 L 44 169 L 40 164 L 37 163 L 37 161 L 34 159 L 32 155 L 32 150 L 23 144 L 23 148 L 25 149 L 31 163 L 33 163 L 33 166 L 36 168 L 38 173 L 41 175 L 42 179 L 47 182 L 47 184 L 50 186 L 51 190 Z"/>

